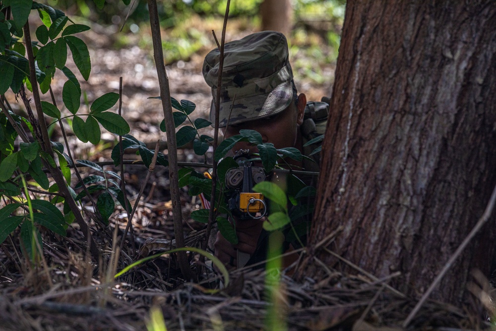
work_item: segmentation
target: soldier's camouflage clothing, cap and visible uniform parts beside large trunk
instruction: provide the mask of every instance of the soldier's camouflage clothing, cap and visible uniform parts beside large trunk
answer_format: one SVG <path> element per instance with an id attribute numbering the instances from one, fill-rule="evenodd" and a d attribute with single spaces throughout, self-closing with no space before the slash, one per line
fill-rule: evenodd
<path id="1" fill-rule="evenodd" d="M 210 107 L 210 121 L 214 122 L 215 100 L 217 96 L 219 75 L 220 51 L 212 50 L 205 57 L 203 76 L 212 88 L 212 103 Z M 262 31 L 247 37 L 225 44 L 224 66 L 220 86 L 219 127 L 236 125 L 248 121 L 258 120 L 276 115 L 287 109 L 297 98 L 294 87 L 293 71 L 289 63 L 288 44 L 286 37 L 279 32 Z M 307 109 L 311 116 L 305 116 L 300 127 L 303 143 L 310 141 L 317 135 L 323 134 L 326 127 L 325 118 L 315 117 L 312 109 L 314 103 L 308 103 Z M 310 155 L 316 145 L 304 147 L 302 153 Z M 303 168 L 307 171 L 319 171 L 319 155 L 311 155 L 313 160 L 304 159 Z M 306 185 L 315 186 L 316 177 L 302 178 Z M 312 204 L 313 201 L 308 201 Z M 311 215 L 302 217 L 294 224 L 309 224 Z M 288 229 L 283 229 L 287 237 Z M 255 253 L 248 261 L 248 265 L 263 261 L 266 258 L 269 233 L 262 231 Z M 288 238 L 288 237 L 287 237 Z M 305 242 L 306 238 L 303 238 Z M 283 249 L 289 244 L 297 247 L 296 241 L 287 241 Z"/>

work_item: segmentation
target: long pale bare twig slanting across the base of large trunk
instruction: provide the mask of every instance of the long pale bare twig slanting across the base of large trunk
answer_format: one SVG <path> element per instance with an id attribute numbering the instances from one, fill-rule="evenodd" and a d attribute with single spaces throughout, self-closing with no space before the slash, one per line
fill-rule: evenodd
<path id="1" fill-rule="evenodd" d="M 486 206 L 486 210 L 484 210 L 484 214 L 482 214 L 481 218 L 477 221 L 475 226 L 473 227 L 472 231 L 465 237 L 463 242 L 458 246 L 456 249 L 455 253 L 449 258 L 448 262 L 444 265 L 442 270 L 439 272 L 439 274 L 435 277 L 434 281 L 432 282 L 431 286 L 427 289 L 427 291 L 422 295 L 422 298 L 420 298 L 419 302 L 417 305 L 415 305 L 414 309 L 412 312 L 408 315 L 406 318 L 405 322 L 403 322 L 403 328 L 408 327 L 412 319 L 415 317 L 419 309 L 422 307 L 422 305 L 426 302 L 427 298 L 429 295 L 431 295 L 432 291 L 434 288 L 439 284 L 441 281 L 442 277 L 446 274 L 446 272 L 451 268 L 455 260 L 460 256 L 460 254 L 463 252 L 463 250 L 467 247 L 469 242 L 474 238 L 474 236 L 479 232 L 479 230 L 482 228 L 484 224 L 488 221 L 489 217 L 493 213 L 494 207 L 496 203 L 496 186 L 493 190 L 493 194 L 491 195 L 491 198 L 489 199 L 489 202 Z"/>

